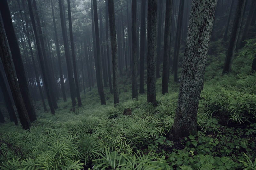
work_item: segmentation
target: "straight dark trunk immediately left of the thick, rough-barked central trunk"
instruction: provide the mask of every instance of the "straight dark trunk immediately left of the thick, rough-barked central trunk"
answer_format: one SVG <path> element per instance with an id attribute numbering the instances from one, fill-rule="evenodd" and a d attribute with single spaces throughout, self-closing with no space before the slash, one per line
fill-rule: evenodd
<path id="1" fill-rule="evenodd" d="M 146 35 L 146 0 L 141 0 L 141 27 L 140 27 L 140 90 L 144 93 L 144 58 L 145 58 L 145 35 Z"/>

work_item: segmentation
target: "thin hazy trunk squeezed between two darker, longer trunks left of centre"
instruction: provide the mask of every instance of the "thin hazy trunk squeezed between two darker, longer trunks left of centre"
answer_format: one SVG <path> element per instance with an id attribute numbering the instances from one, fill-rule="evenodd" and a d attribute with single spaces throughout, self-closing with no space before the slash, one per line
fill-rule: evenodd
<path id="1" fill-rule="evenodd" d="M 107 48 L 107 62 L 108 62 L 108 83 L 109 83 L 109 90 L 110 93 L 113 93 L 113 88 L 112 88 L 112 78 L 111 78 L 111 67 L 110 67 L 110 57 L 109 57 L 109 45 L 108 45 L 108 1 L 106 2 L 106 10 L 105 10 L 105 20 L 106 20 L 106 48 Z"/>

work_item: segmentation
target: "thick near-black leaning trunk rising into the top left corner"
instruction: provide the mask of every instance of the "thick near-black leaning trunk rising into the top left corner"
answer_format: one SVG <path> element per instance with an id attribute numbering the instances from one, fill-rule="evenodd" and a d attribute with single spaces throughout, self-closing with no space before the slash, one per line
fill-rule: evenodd
<path id="1" fill-rule="evenodd" d="M 18 83 L 20 86 L 20 92 L 25 102 L 29 119 L 31 122 L 33 122 L 36 120 L 36 113 L 35 113 L 34 106 L 32 105 L 28 83 L 25 76 L 24 65 L 22 62 L 21 54 L 20 54 L 20 48 L 18 45 L 17 38 L 15 36 L 13 25 L 12 25 L 12 18 L 11 18 L 9 6 L 7 4 L 7 0 L 1 1 L 0 10 L 1 10 L 5 33 L 6 33 L 9 47 L 12 53 L 12 59 L 13 59 L 14 67 L 16 70 Z"/>

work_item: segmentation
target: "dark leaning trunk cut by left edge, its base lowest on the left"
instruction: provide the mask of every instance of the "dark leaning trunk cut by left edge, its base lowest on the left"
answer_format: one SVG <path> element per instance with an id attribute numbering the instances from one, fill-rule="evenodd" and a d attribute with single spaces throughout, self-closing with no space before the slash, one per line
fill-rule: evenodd
<path id="1" fill-rule="evenodd" d="M 8 45 L 4 34 L 4 27 L 0 22 L 0 57 L 4 66 L 5 74 L 12 92 L 12 97 L 15 102 L 17 112 L 20 118 L 20 123 L 24 130 L 29 130 L 31 123 L 28 117 L 28 112 L 21 96 L 18 80 L 15 76 L 12 60 L 8 51 Z"/>

